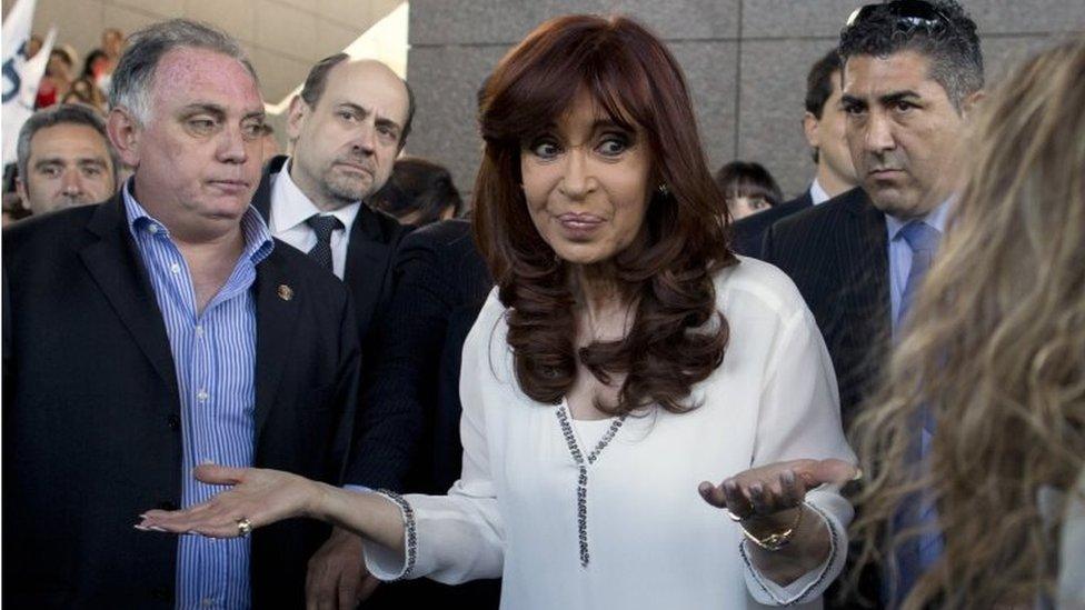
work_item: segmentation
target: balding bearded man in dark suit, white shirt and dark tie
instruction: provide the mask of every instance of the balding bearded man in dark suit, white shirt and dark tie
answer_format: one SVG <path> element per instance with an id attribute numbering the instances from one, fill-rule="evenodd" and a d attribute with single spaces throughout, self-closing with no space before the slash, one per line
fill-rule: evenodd
<path id="1" fill-rule="evenodd" d="M 275 237 L 346 282 L 364 378 L 380 358 L 372 353 L 371 330 L 391 297 L 392 253 L 409 230 L 367 203 L 391 176 L 414 110 L 407 83 L 384 63 L 346 53 L 317 62 L 290 103 L 287 136 L 293 153 L 270 160 L 252 199 Z M 422 414 L 386 406 L 392 407 L 359 403 L 349 484 L 402 490 Z M 361 539 L 335 530 L 309 567 L 310 604 L 331 607 L 339 600 L 340 607 L 354 607 L 367 598 L 377 580 L 361 558 Z"/>

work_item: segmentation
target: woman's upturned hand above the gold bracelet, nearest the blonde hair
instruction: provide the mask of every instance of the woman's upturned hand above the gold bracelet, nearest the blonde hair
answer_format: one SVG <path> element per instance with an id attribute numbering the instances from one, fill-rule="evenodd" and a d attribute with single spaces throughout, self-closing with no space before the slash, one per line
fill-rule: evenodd
<path id="1" fill-rule="evenodd" d="M 795 521 L 806 492 L 824 483 L 843 487 L 859 470 L 843 460 L 792 460 L 751 468 L 718 486 L 697 488 L 709 504 L 726 509 L 749 529 L 775 531 Z"/>

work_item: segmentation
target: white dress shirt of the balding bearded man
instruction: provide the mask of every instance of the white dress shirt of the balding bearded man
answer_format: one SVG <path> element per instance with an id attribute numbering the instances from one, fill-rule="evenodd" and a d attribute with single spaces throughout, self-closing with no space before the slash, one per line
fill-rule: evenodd
<path id="1" fill-rule="evenodd" d="M 317 234 L 306 220 L 319 213 L 338 218 L 339 222 L 342 222 L 342 229 L 331 232 L 331 271 L 341 280 L 347 269 L 347 242 L 350 240 L 350 228 L 358 217 L 361 202 L 356 201 L 331 212 L 321 212 L 290 178 L 291 161 L 292 159 L 287 159 L 282 170 L 271 178 L 271 219 L 268 227 L 272 236 L 302 252 L 308 252 L 317 244 Z"/>

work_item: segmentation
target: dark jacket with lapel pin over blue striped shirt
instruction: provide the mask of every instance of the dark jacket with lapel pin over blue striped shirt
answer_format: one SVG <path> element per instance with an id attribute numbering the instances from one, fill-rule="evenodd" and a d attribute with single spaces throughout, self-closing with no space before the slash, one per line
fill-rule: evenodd
<path id="1" fill-rule="evenodd" d="M 338 483 L 359 349 L 346 290 L 315 269 L 281 243 L 257 266 L 253 463 Z M 172 608 L 177 538 L 132 524 L 180 504 L 181 401 L 121 197 L 6 230 L 3 288 L 4 601 Z M 303 604 L 327 531 L 252 534 L 253 607 Z"/>

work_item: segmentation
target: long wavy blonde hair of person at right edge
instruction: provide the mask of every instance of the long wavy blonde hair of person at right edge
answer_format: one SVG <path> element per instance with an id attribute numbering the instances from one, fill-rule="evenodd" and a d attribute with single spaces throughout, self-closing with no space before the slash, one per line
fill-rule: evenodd
<path id="1" fill-rule="evenodd" d="M 860 567 L 914 539 L 888 524 L 919 490 L 937 506 L 945 550 L 905 609 L 1053 591 L 1057 538 L 1037 492 L 1073 488 L 1085 460 L 1085 38 L 1013 72 L 967 151 L 916 322 L 853 430 L 870 477 L 853 526 Z M 919 471 L 909 449 L 924 409 L 936 431 Z"/>

